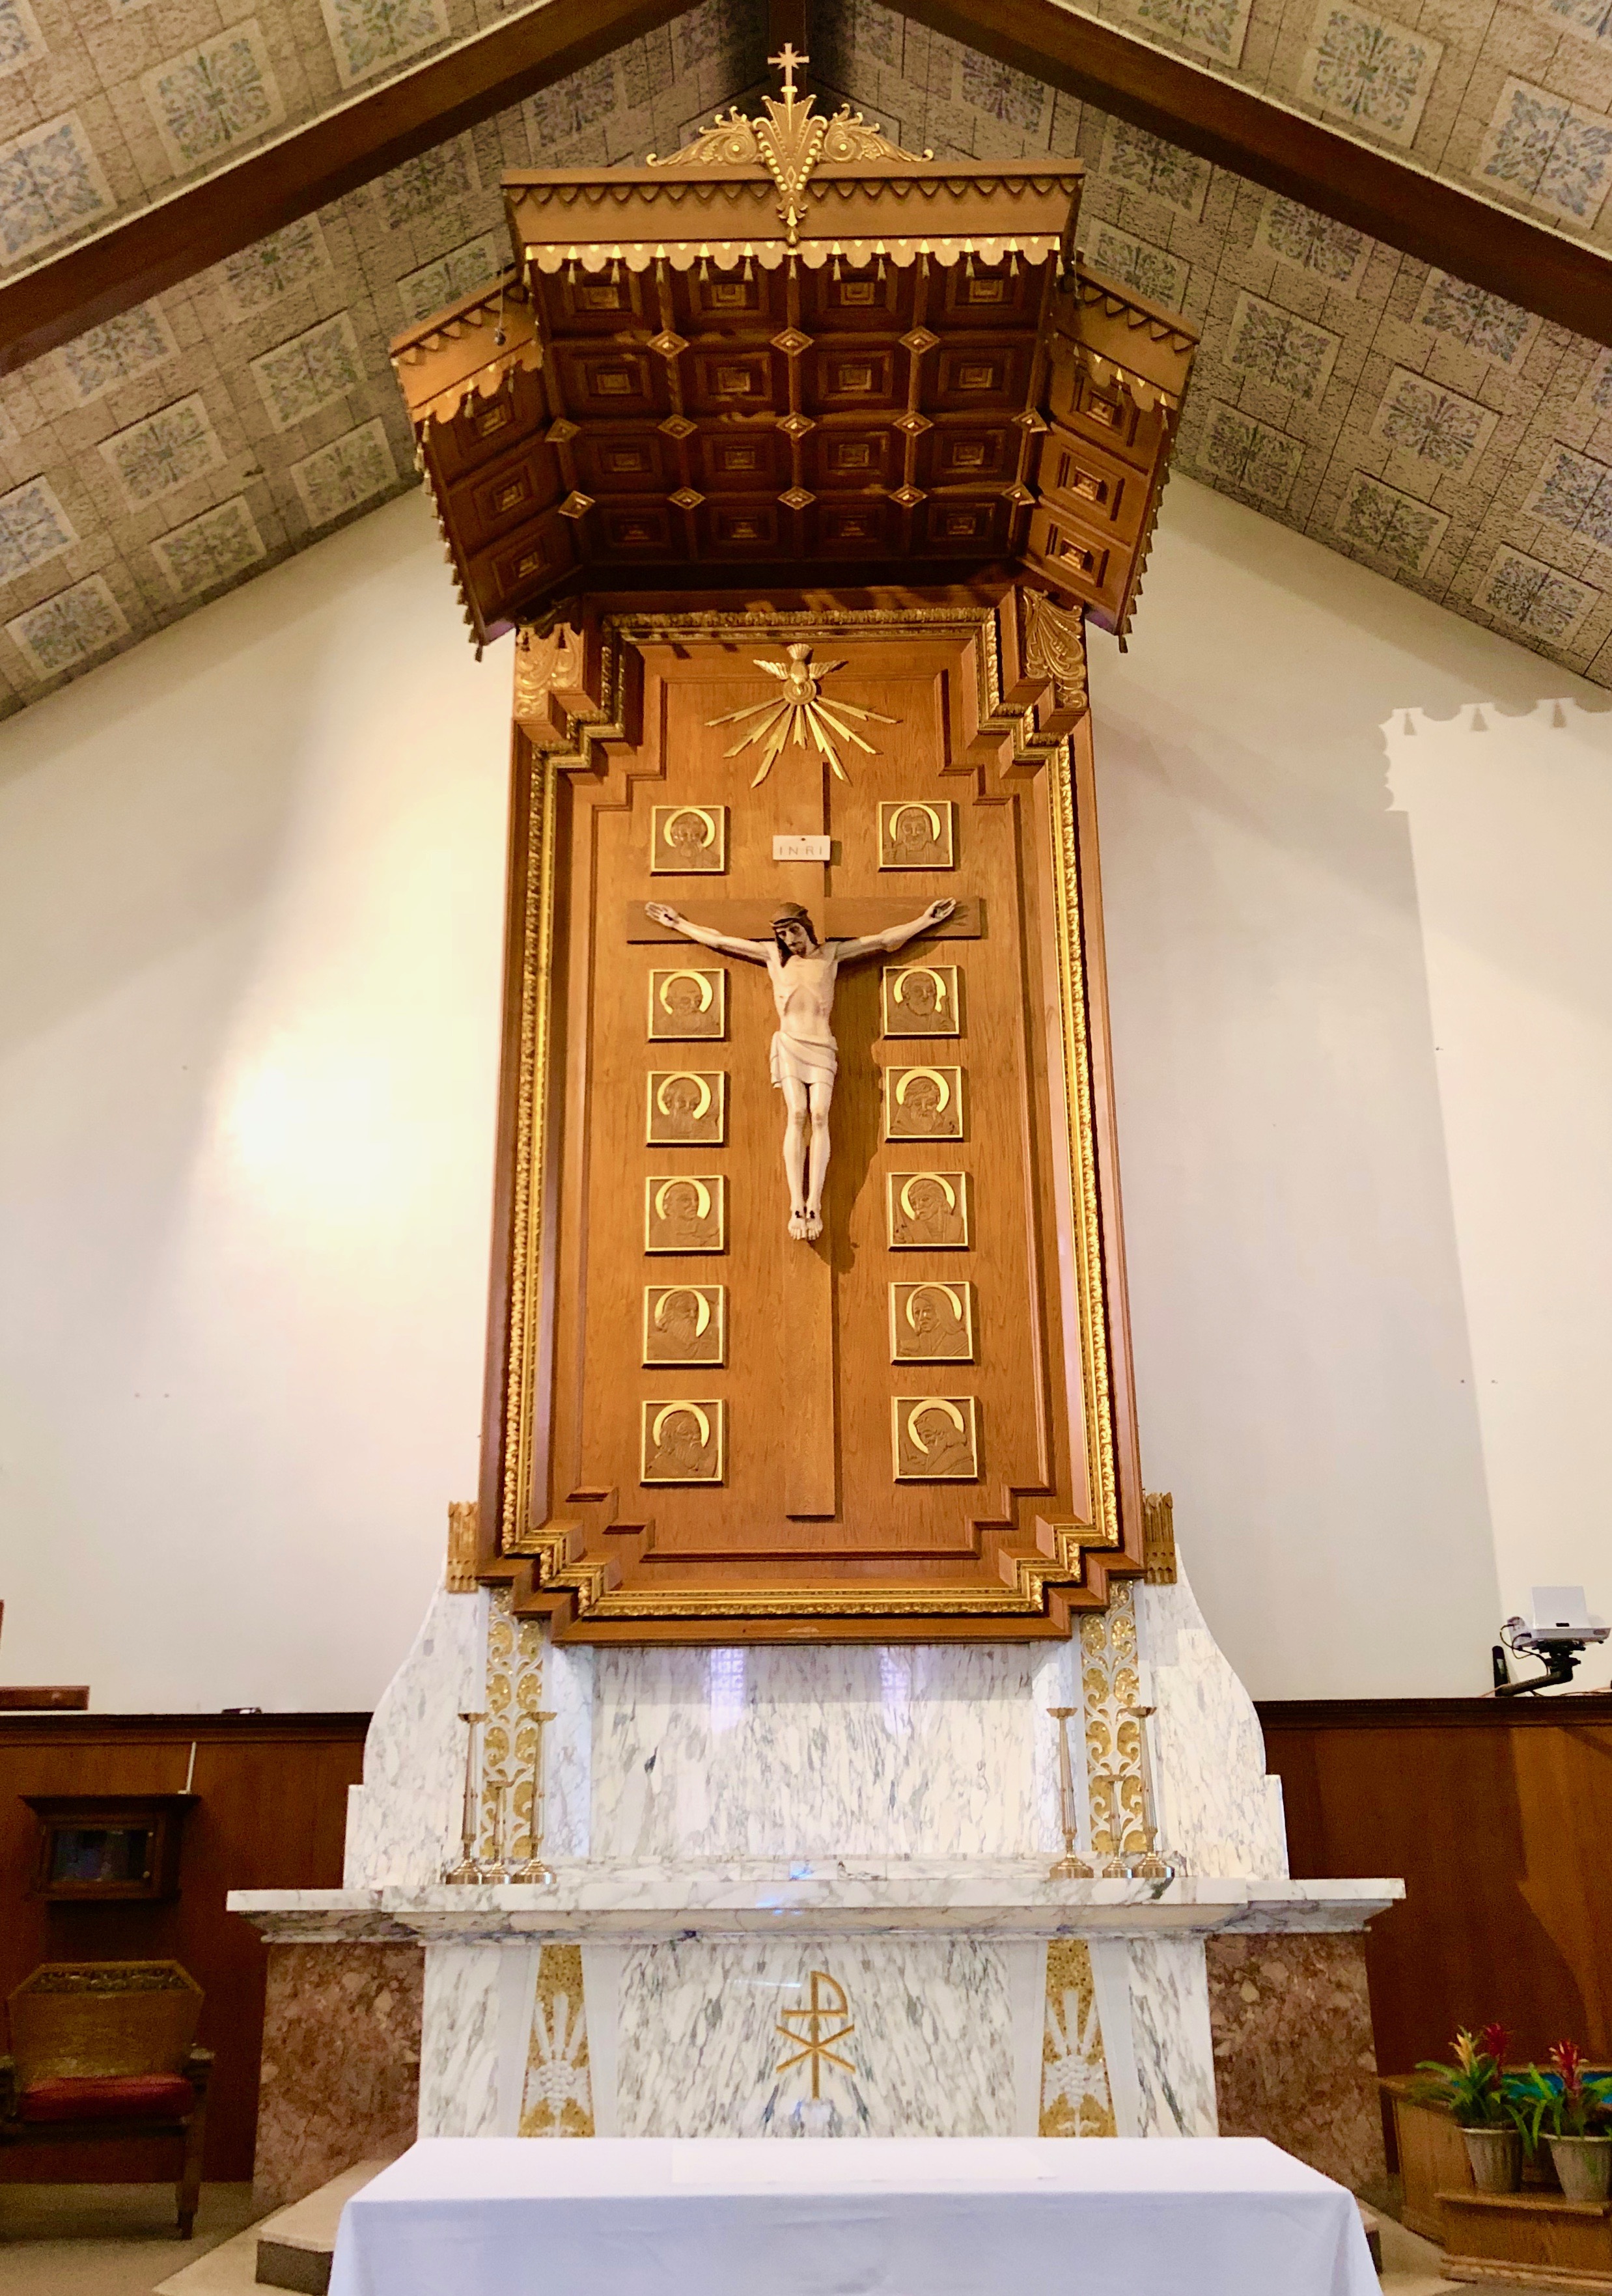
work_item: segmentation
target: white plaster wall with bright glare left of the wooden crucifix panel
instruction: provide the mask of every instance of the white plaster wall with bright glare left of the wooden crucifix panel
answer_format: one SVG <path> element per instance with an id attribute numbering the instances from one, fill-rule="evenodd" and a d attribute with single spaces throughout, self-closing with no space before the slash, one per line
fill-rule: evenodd
<path id="1" fill-rule="evenodd" d="M 420 496 L 0 726 L 5 1681 L 358 1708 L 475 1490 L 507 652 Z"/>

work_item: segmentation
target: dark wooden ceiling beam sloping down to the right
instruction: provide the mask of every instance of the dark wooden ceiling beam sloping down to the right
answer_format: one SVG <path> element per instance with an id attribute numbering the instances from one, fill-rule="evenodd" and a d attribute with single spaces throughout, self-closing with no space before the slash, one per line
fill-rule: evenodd
<path id="1" fill-rule="evenodd" d="M 1612 344 L 1612 259 L 1477 188 L 1341 135 L 1056 0 L 896 0 L 896 7 L 1265 191 Z"/>

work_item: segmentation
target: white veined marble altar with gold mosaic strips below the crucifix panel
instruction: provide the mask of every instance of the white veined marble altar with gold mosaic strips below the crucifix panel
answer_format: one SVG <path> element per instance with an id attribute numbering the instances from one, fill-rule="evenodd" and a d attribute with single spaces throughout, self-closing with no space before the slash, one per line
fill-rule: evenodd
<path id="1" fill-rule="evenodd" d="M 1052 1878 L 1049 1706 L 1084 1711 L 1091 1862 L 1153 1818 L 1173 1878 Z M 544 1887 L 441 1883 L 462 1711 L 489 1713 L 517 1848 L 553 1715 Z M 1362 1929 L 1396 1894 L 1288 1880 L 1254 1706 L 1178 1577 L 1038 1646 L 553 1649 L 501 1593 L 441 1593 L 370 1731 L 344 1887 L 232 1906 L 282 1942 L 425 1949 L 423 2135 L 1180 2138 L 1215 2133 L 1206 1936 Z"/>

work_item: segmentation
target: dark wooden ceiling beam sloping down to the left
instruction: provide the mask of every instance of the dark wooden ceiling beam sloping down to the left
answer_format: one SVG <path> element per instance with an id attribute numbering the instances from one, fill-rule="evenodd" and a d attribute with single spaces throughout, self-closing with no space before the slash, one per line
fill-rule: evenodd
<path id="1" fill-rule="evenodd" d="M 0 285 L 0 374 L 491 119 L 687 5 L 549 0 L 122 216 Z"/>

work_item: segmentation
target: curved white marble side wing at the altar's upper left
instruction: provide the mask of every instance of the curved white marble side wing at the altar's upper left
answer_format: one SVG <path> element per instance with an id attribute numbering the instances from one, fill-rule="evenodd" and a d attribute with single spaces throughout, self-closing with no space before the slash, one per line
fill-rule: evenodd
<path id="1" fill-rule="evenodd" d="M 487 1591 L 432 1596 L 413 1649 L 381 1692 L 363 1743 L 363 1786 L 347 1789 L 349 1890 L 441 1880 L 459 1855 L 462 1713 L 485 1704 Z"/>

